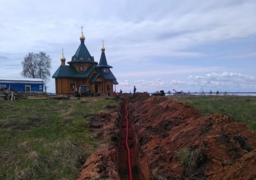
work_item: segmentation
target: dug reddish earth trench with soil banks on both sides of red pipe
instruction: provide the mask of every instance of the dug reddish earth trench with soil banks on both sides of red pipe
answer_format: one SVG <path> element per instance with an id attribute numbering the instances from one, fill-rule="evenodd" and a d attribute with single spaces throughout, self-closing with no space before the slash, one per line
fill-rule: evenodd
<path id="1" fill-rule="evenodd" d="M 254 180 L 256 133 L 223 114 L 203 116 L 192 106 L 123 96 L 111 113 L 92 114 L 93 138 L 103 142 L 81 167 L 79 180 L 128 180 L 124 107 L 128 104 L 134 180 Z"/>

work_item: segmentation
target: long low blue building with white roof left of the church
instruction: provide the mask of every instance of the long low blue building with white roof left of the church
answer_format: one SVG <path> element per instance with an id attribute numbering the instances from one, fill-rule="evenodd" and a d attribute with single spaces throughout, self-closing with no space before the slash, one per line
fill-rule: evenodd
<path id="1" fill-rule="evenodd" d="M 12 88 L 18 92 L 44 91 L 44 81 L 34 78 L 3 78 L 0 77 L 0 89 Z"/>

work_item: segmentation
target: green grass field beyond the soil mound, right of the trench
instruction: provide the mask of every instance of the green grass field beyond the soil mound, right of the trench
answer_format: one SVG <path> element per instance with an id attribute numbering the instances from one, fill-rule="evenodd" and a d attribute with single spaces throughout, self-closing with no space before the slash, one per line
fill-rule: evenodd
<path id="1" fill-rule="evenodd" d="M 204 115 L 221 113 L 245 123 L 248 129 L 256 131 L 256 97 L 236 95 L 197 95 L 169 99 L 194 106 Z"/>

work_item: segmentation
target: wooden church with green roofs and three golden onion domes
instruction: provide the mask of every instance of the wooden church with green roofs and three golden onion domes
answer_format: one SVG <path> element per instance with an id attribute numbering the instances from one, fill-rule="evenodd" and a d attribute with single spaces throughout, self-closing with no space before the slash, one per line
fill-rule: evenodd
<path id="1" fill-rule="evenodd" d="M 98 64 L 87 50 L 84 40 L 82 30 L 80 46 L 71 61 L 67 62 L 68 65 L 65 64 L 66 58 L 62 51 L 61 66 L 52 75 L 52 78 L 55 78 L 56 95 L 72 95 L 76 89 L 79 89 L 80 85 L 87 85 L 90 91 L 96 93 L 115 91 L 113 88 L 118 82 L 110 70 L 113 67 L 107 63 L 104 44 L 102 43 L 102 52 Z"/>

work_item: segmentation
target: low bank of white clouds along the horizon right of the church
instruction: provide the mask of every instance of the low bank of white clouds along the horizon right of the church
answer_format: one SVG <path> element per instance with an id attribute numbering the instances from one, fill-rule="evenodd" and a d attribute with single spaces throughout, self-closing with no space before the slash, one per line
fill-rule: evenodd
<path id="1" fill-rule="evenodd" d="M 143 92 L 154 92 L 154 91 L 172 91 L 176 89 L 177 91 L 190 91 L 200 92 L 202 89 L 205 92 L 212 91 L 229 91 L 229 92 L 239 92 L 248 91 L 248 89 L 256 88 L 256 78 L 250 77 L 244 74 L 233 73 L 233 72 L 222 72 L 222 73 L 209 73 L 204 76 L 189 76 L 187 80 L 161 80 L 160 78 L 145 80 L 138 79 L 134 80 L 134 83 L 129 83 L 126 86 L 125 83 L 119 83 L 120 89 L 124 92 L 129 92 L 132 87 L 136 86 L 137 91 Z"/>

